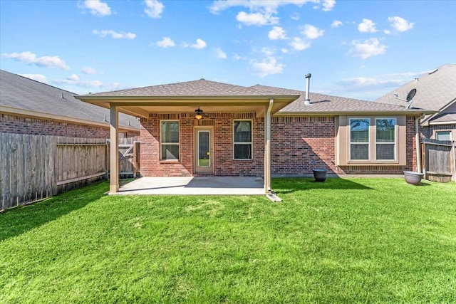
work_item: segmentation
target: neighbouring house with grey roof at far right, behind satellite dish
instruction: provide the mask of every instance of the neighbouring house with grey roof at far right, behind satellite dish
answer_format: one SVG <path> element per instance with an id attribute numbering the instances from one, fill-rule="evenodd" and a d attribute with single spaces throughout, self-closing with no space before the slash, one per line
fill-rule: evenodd
<path id="1" fill-rule="evenodd" d="M 425 115 L 420 121 L 422 136 L 430 140 L 456 141 L 456 64 L 435 68 L 375 102 L 406 105 L 403 100 L 413 89 L 416 94 L 411 100 L 410 108 L 436 111 Z"/>

